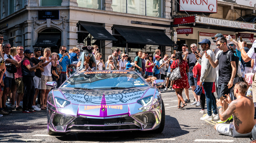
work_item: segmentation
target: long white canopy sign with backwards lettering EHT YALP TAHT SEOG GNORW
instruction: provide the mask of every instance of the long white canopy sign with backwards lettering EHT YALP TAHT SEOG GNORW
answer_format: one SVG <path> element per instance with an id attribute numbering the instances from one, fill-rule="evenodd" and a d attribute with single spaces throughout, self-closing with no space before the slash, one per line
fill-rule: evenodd
<path id="1" fill-rule="evenodd" d="M 206 16 L 197 15 L 196 23 L 256 31 L 256 24 L 253 24 L 253 23 L 245 23 L 240 21 L 211 18 Z"/>

